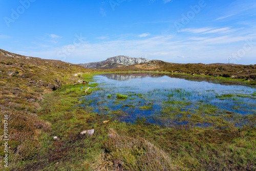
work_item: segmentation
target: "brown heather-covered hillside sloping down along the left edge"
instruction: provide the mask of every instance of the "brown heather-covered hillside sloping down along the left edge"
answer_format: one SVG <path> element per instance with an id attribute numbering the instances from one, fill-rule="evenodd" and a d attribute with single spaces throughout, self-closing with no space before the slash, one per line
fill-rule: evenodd
<path id="1" fill-rule="evenodd" d="M 10 167 L 15 161 L 31 160 L 41 150 L 41 136 L 51 131 L 51 124 L 36 115 L 44 94 L 51 94 L 63 84 L 82 82 L 82 73 L 90 69 L 60 60 L 47 60 L 10 53 L 0 49 L 0 120 L 8 120 Z M 0 125 L 4 135 L 4 124 Z M 0 137 L 3 141 L 4 136 Z M 4 154 L 0 145 L 1 156 Z M 0 170 L 3 170 L 3 162 Z M 7 170 L 7 169 L 6 169 Z M 17 170 L 17 169 L 8 169 Z M 32 170 L 32 169 L 25 169 Z"/>

